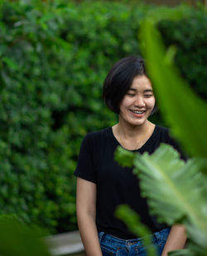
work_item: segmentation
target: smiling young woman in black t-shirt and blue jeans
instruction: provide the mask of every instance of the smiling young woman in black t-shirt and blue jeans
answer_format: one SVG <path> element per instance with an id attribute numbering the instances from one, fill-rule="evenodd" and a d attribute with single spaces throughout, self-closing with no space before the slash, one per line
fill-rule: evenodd
<path id="1" fill-rule="evenodd" d="M 158 224 L 149 214 L 132 169 L 113 159 L 118 145 L 141 154 L 152 154 L 161 142 L 177 148 L 166 128 L 148 121 L 156 110 L 156 99 L 141 57 L 125 57 L 112 67 L 103 84 L 103 98 L 109 109 L 118 113 L 118 124 L 84 137 L 75 170 L 77 218 L 86 254 L 146 255 L 142 238 L 135 237 L 115 218 L 119 204 L 128 204 L 152 230 L 159 255 L 182 249 L 184 227 Z"/>

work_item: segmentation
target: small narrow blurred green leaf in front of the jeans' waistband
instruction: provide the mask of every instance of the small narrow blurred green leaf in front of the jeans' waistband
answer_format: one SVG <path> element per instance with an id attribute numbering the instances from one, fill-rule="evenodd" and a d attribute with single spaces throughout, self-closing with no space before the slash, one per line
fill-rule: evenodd
<path id="1" fill-rule="evenodd" d="M 123 220 L 123 222 L 128 226 L 128 229 L 136 234 L 137 237 L 142 237 L 144 246 L 146 246 L 147 255 L 155 256 L 156 249 L 152 244 L 152 233 L 147 227 L 142 224 L 139 216 L 128 205 L 120 205 L 115 211 L 115 215 L 118 219 Z"/>

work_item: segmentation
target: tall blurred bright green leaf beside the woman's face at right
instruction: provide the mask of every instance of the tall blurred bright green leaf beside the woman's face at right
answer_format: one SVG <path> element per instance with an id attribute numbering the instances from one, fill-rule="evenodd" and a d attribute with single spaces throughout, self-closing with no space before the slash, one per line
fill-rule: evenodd
<path id="1" fill-rule="evenodd" d="M 173 48 L 165 51 L 153 22 L 143 22 L 141 36 L 142 52 L 163 117 L 190 155 L 206 157 L 207 104 L 195 95 L 173 66 L 175 51 Z"/>

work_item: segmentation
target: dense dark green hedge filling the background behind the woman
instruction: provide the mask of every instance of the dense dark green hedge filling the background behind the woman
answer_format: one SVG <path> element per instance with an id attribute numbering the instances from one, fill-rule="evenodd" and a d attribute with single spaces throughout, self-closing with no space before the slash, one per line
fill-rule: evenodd
<path id="1" fill-rule="evenodd" d="M 151 8 L 105 1 L 1 3 L 0 214 L 17 214 L 53 234 L 77 228 L 79 145 L 87 132 L 118 120 L 103 104 L 103 79 L 118 59 L 140 54 L 138 27 Z M 206 96 L 206 12 L 190 13 L 184 22 L 159 27 L 166 45 L 176 43 L 185 79 Z M 159 115 L 155 119 L 162 123 Z"/>

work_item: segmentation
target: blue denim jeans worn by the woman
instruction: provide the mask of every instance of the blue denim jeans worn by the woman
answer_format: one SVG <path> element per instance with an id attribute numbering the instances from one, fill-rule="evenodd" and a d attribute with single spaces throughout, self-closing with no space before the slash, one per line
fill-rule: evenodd
<path id="1" fill-rule="evenodd" d="M 161 255 L 169 232 L 170 228 L 167 228 L 152 235 L 152 243 L 156 247 L 157 255 Z M 147 256 L 142 238 L 125 240 L 99 232 L 99 241 L 103 256 Z"/>

